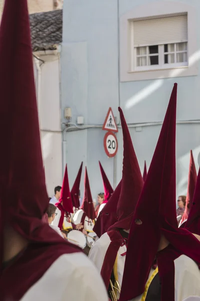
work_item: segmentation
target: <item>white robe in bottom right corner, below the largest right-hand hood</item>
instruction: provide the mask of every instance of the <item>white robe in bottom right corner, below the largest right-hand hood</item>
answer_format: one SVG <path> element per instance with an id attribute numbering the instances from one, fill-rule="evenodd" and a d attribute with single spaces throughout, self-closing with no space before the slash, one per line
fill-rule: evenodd
<path id="1" fill-rule="evenodd" d="M 174 267 L 175 301 L 189 301 L 188 298 L 191 296 L 199 297 L 200 270 L 198 269 L 197 264 L 189 257 L 181 255 L 174 260 Z M 131 301 L 145 300 L 144 294 L 145 293 L 143 293 L 141 296 L 131 299 Z"/>

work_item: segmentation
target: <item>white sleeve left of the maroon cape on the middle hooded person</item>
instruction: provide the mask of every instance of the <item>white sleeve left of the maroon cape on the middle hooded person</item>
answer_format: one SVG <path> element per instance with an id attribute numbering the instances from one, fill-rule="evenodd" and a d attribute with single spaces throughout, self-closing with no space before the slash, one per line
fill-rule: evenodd
<path id="1" fill-rule="evenodd" d="M 104 233 L 92 246 L 89 251 L 88 258 L 91 260 L 94 265 L 97 267 L 98 271 L 101 271 L 103 261 L 105 258 L 105 254 L 107 248 L 110 244 L 111 240 L 107 233 Z"/>

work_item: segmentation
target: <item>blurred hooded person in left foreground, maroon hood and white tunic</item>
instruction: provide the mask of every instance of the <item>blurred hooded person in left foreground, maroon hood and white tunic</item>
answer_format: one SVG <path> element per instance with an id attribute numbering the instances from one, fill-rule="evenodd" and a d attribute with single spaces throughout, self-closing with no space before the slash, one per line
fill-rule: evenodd
<path id="1" fill-rule="evenodd" d="M 42 223 L 48 196 L 27 0 L 5 0 L 0 26 L 0 87 L 0 137 L 5 143 L 0 150 L 0 300 L 62 301 L 66 293 L 71 300 L 104 300 L 106 291 L 89 260 Z"/>

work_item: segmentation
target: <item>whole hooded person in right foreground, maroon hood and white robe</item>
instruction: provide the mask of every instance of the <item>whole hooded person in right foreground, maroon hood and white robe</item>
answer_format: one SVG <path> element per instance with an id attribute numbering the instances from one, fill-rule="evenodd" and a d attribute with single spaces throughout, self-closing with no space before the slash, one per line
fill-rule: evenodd
<path id="1" fill-rule="evenodd" d="M 176 93 L 177 84 L 174 84 L 132 219 L 120 301 L 182 301 L 188 296 L 200 295 L 200 272 L 193 261 L 200 262 L 200 242 L 187 230 L 178 228 L 176 220 Z M 157 269 L 151 270 L 155 258 L 158 273 Z"/>

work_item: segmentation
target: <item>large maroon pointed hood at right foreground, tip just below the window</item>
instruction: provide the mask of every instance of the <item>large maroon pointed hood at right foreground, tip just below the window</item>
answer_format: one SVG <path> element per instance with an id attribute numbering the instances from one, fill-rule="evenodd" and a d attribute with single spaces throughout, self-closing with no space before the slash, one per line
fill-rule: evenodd
<path id="1" fill-rule="evenodd" d="M 120 301 L 130 300 L 143 293 L 148 273 L 157 254 L 161 234 L 182 254 L 196 261 L 200 259 L 197 239 L 187 230 L 177 227 L 175 211 L 176 93 L 177 84 L 174 84 L 158 142 L 132 219 Z M 145 238 L 141 239 L 141 237 Z M 173 281 L 171 285 L 174 285 Z M 169 285 L 164 288 L 174 293 L 174 287 Z"/>

